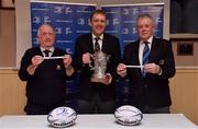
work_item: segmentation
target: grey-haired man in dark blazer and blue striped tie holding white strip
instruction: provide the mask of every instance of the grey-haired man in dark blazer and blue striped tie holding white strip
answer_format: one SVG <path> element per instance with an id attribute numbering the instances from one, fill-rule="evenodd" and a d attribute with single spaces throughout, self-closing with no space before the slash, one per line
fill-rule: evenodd
<path id="1" fill-rule="evenodd" d="M 143 113 L 169 113 L 168 79 L 175 74 L 174 55 L 170 42 L 153 36 L 154 26 L 151 15 L 138 17 L 140 39 L 124 47 L 123 63 L 118 66 L 117 72 L 130 79 L 131 105 Z"/>

